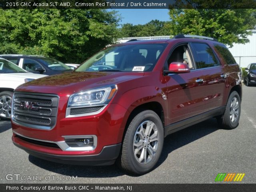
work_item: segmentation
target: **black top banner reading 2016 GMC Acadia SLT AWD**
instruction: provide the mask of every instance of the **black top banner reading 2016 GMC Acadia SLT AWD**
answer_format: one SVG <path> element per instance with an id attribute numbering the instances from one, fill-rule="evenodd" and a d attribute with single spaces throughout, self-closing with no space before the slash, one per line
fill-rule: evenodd
<path id="1" fill-rule="evenodd" d="M 256 0 L 0 0 L 3 9 L 255 9 Z"/>

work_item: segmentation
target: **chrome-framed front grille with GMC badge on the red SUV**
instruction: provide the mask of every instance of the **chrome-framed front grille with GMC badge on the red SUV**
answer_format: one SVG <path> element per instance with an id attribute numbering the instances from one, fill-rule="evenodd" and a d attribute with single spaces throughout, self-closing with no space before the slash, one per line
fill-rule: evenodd
<path id="1" fill-rule="evenodd" d="M 14 92 L 12 121 L 21 126 L 38 129 L 52 129 L 56 124 L 58 96 Z"/>

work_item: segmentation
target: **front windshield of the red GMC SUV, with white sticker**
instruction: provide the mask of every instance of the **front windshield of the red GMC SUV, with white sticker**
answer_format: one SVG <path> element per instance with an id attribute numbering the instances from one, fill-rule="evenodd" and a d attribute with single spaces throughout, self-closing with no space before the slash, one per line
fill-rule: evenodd
<path id="1" fill-rule="evenodd" d="M 135 44 L 108 47 L 75 71 L 152 71 L 167 44 Z"/>

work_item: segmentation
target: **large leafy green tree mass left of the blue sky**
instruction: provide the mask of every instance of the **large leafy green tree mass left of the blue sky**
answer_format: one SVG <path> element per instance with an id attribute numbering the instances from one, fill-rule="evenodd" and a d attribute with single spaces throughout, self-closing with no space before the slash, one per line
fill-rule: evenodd
<path id="1" fill-rule="evenodd" d="M 119 16 L 101 9 L 0 10 L 0 53 L 80 63 L 118 38 Z"/>

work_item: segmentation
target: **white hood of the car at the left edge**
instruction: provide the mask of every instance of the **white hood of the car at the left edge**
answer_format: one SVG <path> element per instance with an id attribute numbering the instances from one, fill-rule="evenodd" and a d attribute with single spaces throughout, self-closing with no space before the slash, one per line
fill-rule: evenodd
<path id="1" fill-rule="evenodd" d="M 34 74 L 34 73 L 1 73 L 0 79 L 10 79 L 13 81 L 20 81 L 23 79 L 38 79 L 42 77 L 46 77 L 47 75 Z"/>

